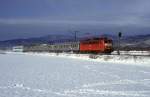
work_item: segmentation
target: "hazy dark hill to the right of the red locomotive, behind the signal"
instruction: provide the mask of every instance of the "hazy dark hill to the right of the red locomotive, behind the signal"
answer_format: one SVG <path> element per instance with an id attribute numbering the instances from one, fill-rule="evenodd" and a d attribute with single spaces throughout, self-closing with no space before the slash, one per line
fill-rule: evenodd
<path id="1" fill-rule="evenodd" d="M 117 48 L 117 37 L 114 40 L 114 48 Z M 122 50 L 150 50 L 150 34 L 124 36 L 121 38 Z"/>

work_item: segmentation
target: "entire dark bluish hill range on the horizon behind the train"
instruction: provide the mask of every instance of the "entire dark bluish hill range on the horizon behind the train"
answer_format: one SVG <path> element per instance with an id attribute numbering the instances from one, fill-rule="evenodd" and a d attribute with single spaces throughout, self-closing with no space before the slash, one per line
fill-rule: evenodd
<path id="1" fill-rule="evenodd" d="M 114 49 L 117 49 L 118 37 L 114 35 L 101 35 L 112 38 Z M 80 40 L 81 38 L 77 38 Z M 38 45 L 38 44 L 51 44 L 55 42 L 74 41 L 74 36 L 68 35 L 47 35 L 43 37 L 33 37 L 27 39 L 13 39 L 0 41 L 0 48 L 12 47 L 16 45 Z M 122 50 L 150 50 L 150 34 L 136 35 L 136 36 L 123 36 L 121 38 Z"/>

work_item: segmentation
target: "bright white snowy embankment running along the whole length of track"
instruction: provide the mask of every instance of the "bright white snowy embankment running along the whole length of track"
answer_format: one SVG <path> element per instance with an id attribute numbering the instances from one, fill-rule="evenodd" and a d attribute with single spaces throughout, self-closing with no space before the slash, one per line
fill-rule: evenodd
<path id="1" fill-rule="evenodd" d="M 142 65 L 142 66 L 150 66 L 150 55 L 149 53 L 142 51 L 134 51 L 134 54 L 140 54 L 140 56 L 137 55 L 128 55 L 126 52 L 121 52 L 121 55 L 116 55 L 113 52 L 114 55 L 92 55 L 92 54 L 73 54 L 73 53 L 17 53 L 17 52 L 11 52 L 11 53 L 17 53 L 17 54 L 30 54 L 35 56 L 54 56 L 54 57 L 66 57 L 66 58 L 75 58 L 75 59 L 81 59 L 81 60 L 88 60 L 88 61 L 97 61 L 97 62 L 109 62 L 109 63 L 121 63 L 121 64 L 131 64 L 131 65 Z M 10 52 L 9 52 L 10 53 Z M 146 55 L 146 56 L 145 56 Z"/>

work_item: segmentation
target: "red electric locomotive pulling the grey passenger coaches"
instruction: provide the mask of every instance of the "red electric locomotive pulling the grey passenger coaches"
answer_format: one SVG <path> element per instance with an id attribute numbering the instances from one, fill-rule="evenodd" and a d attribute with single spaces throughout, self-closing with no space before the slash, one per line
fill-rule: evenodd
<path id="1" fill-rule="evenodd" d="M 80 52 L 83 53 L 111 53 L 112 51 L 112 40 L 106 37 L 80 41 Z"/>

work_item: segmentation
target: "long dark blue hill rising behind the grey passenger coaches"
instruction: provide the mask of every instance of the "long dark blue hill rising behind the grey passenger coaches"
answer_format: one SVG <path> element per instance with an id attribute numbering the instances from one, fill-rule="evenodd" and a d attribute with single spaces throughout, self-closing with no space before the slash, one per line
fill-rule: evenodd
<path id="1" fill-rule="evenodd" d="M 47 35 L 42 37 L 33 37 L 27 39 L 13 39 L 0 41 L 0 47 L 12 47 L 16 45 L 38 45 L 38 44 L 50 44 L 54 42 L 63 42 L 63 41 L 72 41 L 74 40 L 73 36 L 66 35 Z"/>

